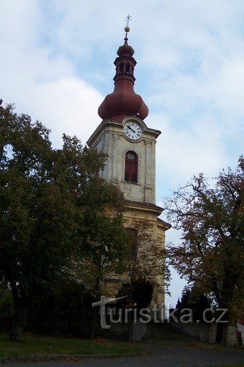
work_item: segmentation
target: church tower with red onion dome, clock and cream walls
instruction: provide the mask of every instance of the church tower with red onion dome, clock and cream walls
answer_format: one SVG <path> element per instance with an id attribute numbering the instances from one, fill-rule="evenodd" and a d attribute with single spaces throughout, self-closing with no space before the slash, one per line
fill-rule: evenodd
<path id="1" fill-rule="evenodd" d="M 137 62 L 134 50 L 125 42 L 117 51 L 114 61 L 114 92 L 108 94 L 98 108 L 102 122 L 93 132 L 87 145 L 107 154 L 102 178 L 119 185 L 126 200 L 126 226 L 133 228 L 133 220 L 147 220 L 153 238 L 165 245 L 165 231 L 169 224 L 158 216 L 162 208 L 155 205 L 155 143 L 159 130 L 147 127 L 144 119 L 148 107 L 135 93 L 134 70 Z M 118 278 L 109 279 L 118 282 Z M 158 274 L 153 290 L 153 301 L 164 303 L 163 275 Z"/>

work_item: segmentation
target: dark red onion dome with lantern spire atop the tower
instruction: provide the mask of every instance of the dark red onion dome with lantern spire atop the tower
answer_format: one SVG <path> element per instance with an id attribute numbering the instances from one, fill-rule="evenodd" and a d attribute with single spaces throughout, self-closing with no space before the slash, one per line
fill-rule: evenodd
<path id="1" fill-rule="evenodd" d="M 102 120 L 121 122 L 128 116 L 137 116 L 144 120 L 148 115 L 148 107 L 142 97 L 134 92 L 134 69 L 137 62 L 132 57 L 135 51 L 128 45 L 129 30 L 129 27 L 125 27 L 125 43 L 117 51 L 119 57 L 114 61 L 114 92 L 108 94 L 98 108 L 98 115 Z"/>

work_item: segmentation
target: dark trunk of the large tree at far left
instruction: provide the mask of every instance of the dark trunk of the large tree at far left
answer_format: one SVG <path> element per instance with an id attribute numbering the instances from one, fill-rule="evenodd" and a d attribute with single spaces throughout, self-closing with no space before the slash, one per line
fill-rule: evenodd
<path id="1" fill-rule="evenodd" d="M 27 306 L 20 303 L 11 319 L 9 339 L 14 342 L 22 341 L 22 333 L 26 326 Z"/>

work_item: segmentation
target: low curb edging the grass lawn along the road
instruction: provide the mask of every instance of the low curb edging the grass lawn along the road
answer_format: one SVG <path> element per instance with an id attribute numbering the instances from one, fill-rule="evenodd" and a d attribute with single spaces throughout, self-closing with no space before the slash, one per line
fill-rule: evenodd
<path id="1" fill-rule="evenodd" d="M 79 359 L 109 359 L 109 358 L 126 358 L 126 357 L 143 357 L 151 353 L 151 350 L 138 353 L 126 354 L 33 354 L 32 356 L 20 357 L 2 357 L 0 358 L 0 365 L 10 363 L 31 363 L 31 362 L 54 362 L 54 361 L 69 361 L 77 362 Z"/>

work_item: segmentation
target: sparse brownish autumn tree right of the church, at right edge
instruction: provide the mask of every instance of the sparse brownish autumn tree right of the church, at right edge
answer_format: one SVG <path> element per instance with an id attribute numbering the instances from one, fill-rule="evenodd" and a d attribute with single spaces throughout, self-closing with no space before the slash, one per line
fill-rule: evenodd
<path id="1" fill-rule="evenodd" d="M 171 265 L 194 285 L 195 294 L 211 296 L 227 308 L 228 324 L 221 328 L 221 343 L 231 343 L 236 317 L 243 312 L 244 285 L 244 159 L 215 178 L 215 185 L 200 174 L 174 192 L 167 201 L 169 219 L 183 236 L 169 246 Z"/>

